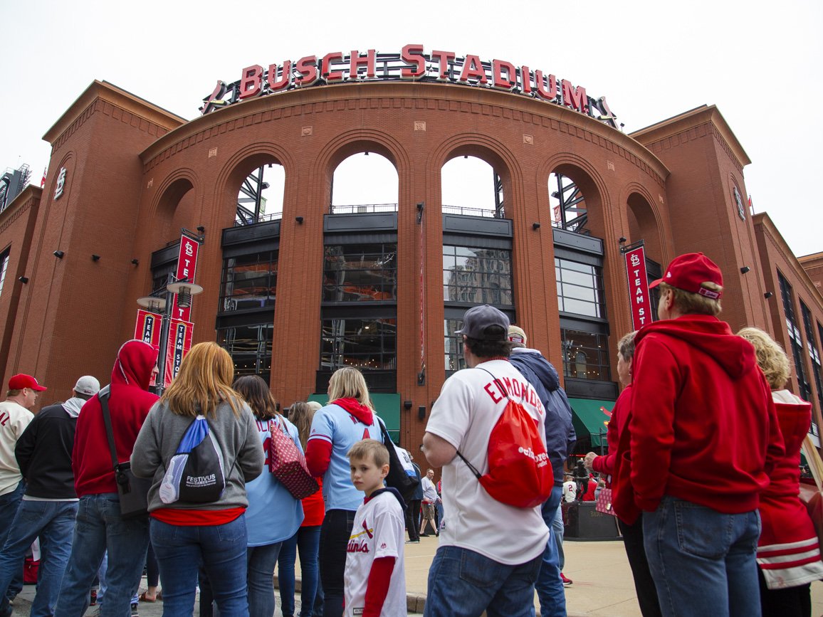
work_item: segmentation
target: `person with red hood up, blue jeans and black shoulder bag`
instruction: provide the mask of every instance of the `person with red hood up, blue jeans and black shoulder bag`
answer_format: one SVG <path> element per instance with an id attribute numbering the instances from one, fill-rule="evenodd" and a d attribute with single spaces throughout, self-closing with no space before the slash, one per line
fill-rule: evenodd
<path id="1" fill-rule="evenodd" d="M 157 373 L 157 351 L 143 341 L 127 341 L 117 352 L 109 387 L 109 415 L 119 462 L 128 462 L 143 421 L 157 396 L 148 392 Z M 129 615 L 149 542 L 148 517 L 124 521 L 98 395 L 77 419 L 72 452 L 74 487 L 80 504 L 72 556 L 60 587 L 55 617 L 78 617 L 86 611 L 89 590 L 106 550 L 108 587 L 101 606 L 104 617 Z M 193 566 L 196 567 L 196 564 Z"/>

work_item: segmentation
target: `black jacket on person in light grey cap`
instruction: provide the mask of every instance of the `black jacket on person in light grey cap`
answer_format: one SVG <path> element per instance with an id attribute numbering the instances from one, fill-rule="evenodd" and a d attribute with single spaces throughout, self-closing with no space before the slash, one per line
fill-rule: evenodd
<path id="1" fill-rule="evenodd" d="M 77 418 L 57 403 L 40 410 L 17 440 L 14 455 L 26 479 L 26 494 L 43 499 L 77 499 L 72 448 Z"/>

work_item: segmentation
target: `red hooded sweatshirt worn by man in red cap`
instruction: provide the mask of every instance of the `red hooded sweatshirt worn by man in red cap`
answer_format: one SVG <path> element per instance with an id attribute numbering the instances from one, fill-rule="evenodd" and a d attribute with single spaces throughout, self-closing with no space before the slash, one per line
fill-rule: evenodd
<path id="1" fill-rule="evenodd" d="M 718 318 L 685 315 L 642 328 L 635 345 L 628 431 L 616 461 L 617 514 L 633 522 L 625 507 L 632 490 L 633 505 L 647 512 L 663 495 L 722 513 L 756 510 L 784 452 L 751 343 Z"/>

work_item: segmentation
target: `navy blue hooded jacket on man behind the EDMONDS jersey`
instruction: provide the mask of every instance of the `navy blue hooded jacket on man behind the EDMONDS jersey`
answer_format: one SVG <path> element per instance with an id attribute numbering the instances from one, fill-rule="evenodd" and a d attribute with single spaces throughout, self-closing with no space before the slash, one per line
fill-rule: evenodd
<path id="1" fill-rule="evenodd" d="M 532 384 L 546 408 L 546 452 L 555 475 L 555 485 L 562 486 L 563 464 L 577 435 L 571 423 L 569 399 L 560 387 L 560 377 L 538 350 L 515 347 L 509 361 Z"/>

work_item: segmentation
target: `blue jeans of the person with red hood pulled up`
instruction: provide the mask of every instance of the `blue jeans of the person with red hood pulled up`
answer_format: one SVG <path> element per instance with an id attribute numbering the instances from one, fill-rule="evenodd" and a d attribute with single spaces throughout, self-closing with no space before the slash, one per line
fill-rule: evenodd
<path id="1" fill-rule="evenodd" d="M 148 521 L 123 521 L 117 493 L 83 495 L 77 508 L 72 556 L 63 575 L 54 617 L 77 617 L 86 612 L 89 590 L 106 550 L 109 567 L 100 614 L 128 615 L 129 603 L 140 585 L 148 544 Z"/>

